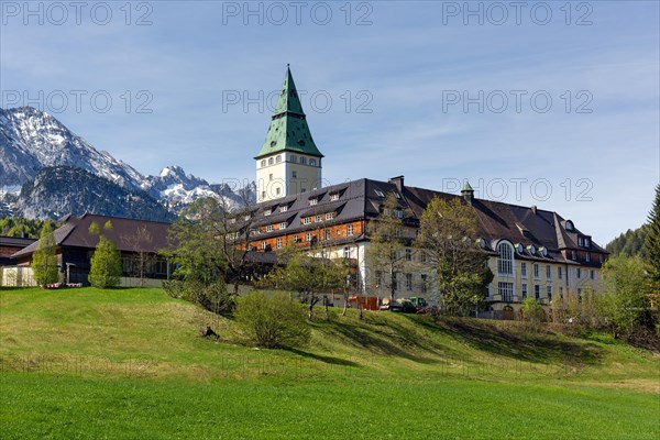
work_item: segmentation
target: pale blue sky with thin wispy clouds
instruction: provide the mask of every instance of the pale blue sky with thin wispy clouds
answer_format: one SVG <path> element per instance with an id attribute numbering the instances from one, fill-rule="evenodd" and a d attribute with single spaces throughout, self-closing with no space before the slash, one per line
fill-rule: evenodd
<path id="1" fill-rule="evenodd" d="M 2 107 L 40 107 L 144 174 L 253 179 L 290 63 L 328 183 L 469 179 L 605 244 L 659 182 L 657 1 L 0 7 Z"/>

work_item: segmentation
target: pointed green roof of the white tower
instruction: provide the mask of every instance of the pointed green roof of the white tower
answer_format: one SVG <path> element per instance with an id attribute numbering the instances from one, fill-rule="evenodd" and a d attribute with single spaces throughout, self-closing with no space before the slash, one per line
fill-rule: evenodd
<path id="1" fill-rule="evenodd" d="M 277 107 L 275 107 L 271 127 L 268 127 L 266 133 L 266 140 L 254 158 L 285 151 L 323 157 L 311 138 L 309 125 L 307 125 L 307 117 L 302 111 L 298 90 L 296 90 L 296 84 L 288 65 Z"/>

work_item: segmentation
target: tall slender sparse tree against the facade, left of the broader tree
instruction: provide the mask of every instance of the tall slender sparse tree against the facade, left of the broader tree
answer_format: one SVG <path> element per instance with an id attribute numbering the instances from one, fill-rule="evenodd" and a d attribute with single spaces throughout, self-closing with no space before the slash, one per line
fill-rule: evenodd
<path id="1" fill-rule="evenodd" d="M 373 274 L 372 283 L 375 283 L 376 288 L 387 289 L 392 301 L 396 299 L 397 282 L 408 265 L 403 238 L 404 217 L 405 209 L 399 207 L 396 196 L 389 193 L 381 207 L 381 213 L 367 227 L 370 243 L 366 260 Z"/>

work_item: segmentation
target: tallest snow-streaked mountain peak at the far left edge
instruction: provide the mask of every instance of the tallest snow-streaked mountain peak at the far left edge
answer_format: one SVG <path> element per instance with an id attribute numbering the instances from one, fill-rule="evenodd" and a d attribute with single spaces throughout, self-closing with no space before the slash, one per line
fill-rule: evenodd
<path id="1" fill-rule="evenodd" d="M 99 152 L 58 120 L 34 109 L 0 109 L 0 186 L 23 185 L 48 166 L 73 166 L 138 189 L 144 177 Z"/>

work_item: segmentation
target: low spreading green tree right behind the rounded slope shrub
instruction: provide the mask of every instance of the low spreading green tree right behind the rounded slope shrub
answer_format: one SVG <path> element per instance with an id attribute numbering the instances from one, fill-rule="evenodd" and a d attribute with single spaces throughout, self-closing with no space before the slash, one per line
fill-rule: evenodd
<path id="1" fill-rule="evenodd" d="M 314 306 L 322 294 L 343 287 L 348 267 L 342 261 L 327 255 L 311 256 L 305 249 L 288 246 L 278 252 L 279 266 L 275 267 L 262 282 L 265 287 L 295 292 L 308 305 L 308 319 L 314 319 Z"/>

